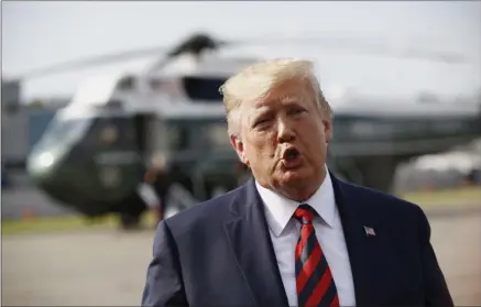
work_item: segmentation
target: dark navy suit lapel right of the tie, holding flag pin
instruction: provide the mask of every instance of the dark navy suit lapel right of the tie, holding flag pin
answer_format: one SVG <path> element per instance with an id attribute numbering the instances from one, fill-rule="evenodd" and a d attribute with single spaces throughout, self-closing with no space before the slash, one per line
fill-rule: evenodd
<path id="1" fill-rule="evenodd" d="M 373 306 L 382 296 L 379 293 L 382 288 L 379 272 L 373 271 L 383 256 L 379 249 L 379 222 L 375 217 L 367 213 L 363 205 L 368 204 L 360 204 L 365 200 L 359 197 L 356 188 L 340 182 L 332 174 L 331 177 L 351 264 L 356 303 L 357 306 Z M 368 235 L 364 226 L 374 229 L 375 235 Z"/>

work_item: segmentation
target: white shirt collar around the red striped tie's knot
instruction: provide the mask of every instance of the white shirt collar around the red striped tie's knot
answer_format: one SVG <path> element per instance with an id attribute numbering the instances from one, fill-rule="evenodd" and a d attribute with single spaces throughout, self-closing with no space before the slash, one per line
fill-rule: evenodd
<path id="1" fill-rule="evenodd" d="M 258 182 L 255 182 L 259 195 L 261 196 L 266 210 L 267 224 L 276 237 L 280 237 L 282 231 L 287 226 L 297 206 L 300 204 L 288 199 L 281 194 L 273 191 L 271 189 L 262 187 Z M 326 177 L 316 193 L 307 200 L 316 212 L 321 217 L 321 219 L 329 226 L 332 227 L 336 217 L 336 202 L 332 189 L 332 182 L 327 172 L 326 166 Z"/>

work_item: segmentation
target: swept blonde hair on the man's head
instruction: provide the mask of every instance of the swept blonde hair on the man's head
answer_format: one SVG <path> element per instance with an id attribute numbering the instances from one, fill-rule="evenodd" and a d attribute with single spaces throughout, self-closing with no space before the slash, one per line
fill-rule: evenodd
<path id="1" fill-rule="evenodd" d="M 332 110 L 314 74 L 313 62 L 298 58 L 277 58 L 248 66 L 219 88 L 220 94 L 223 95 L 229 134 L 238 134 L 238 127 L 233 127 L 233 121 L 239 123 L 238 111 L 243 101 L 260 100 L 273 87 L 285 80 L 305 78 L 309 79 L 316 92 L 319 110 L 330 120 Z"/>

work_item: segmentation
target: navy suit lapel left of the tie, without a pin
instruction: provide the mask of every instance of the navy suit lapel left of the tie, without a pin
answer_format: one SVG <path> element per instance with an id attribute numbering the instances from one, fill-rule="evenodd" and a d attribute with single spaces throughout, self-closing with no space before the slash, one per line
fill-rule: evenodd
<path id="1" fill-rule="evenodd" d="M 263 204 L 254 180 L 249 180 L 241 190 L 243 194 L 231 205 L 233 219 L 226 222 L 226 234 L 258 305 L 287 306 Z"/>

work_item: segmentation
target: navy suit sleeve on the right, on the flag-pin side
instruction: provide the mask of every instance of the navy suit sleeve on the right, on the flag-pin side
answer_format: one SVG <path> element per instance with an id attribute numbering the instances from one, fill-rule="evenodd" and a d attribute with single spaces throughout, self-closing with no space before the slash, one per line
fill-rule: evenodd
<path id="1" fill-rule="evenodd" d="M 426 306 L 453 306 L 445 276 L 430 243 L 429 221 L 419 208 L 420 257 Z"/>

